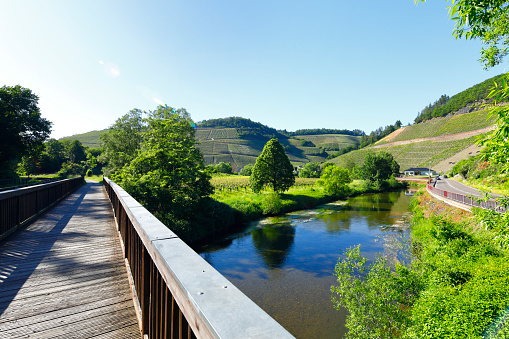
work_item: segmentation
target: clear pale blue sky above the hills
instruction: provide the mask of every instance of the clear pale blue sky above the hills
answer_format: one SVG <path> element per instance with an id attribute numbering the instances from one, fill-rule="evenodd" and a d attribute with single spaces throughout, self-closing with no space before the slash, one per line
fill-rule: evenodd
<path id="1" fill-rule="evenodd" d="M 0 86 L 39 97 L 52 137 L 158 102 L 195 121 L 362 129 L 505 72 L 455 40 L 444 0 L 4 1 Z"/>

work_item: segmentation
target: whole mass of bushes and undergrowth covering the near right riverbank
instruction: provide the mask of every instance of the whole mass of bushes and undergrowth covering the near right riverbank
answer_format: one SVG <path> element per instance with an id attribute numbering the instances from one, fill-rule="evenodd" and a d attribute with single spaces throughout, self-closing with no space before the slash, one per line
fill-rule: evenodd
<path id="1" fill-rule="evenodd" d="M 349 337 L 480 338 L 493 332 L 490 324 L 509 304 L 508 252 L 496 241 L 506 231 L 426 218 L 415 208 L 411 264 L 391 266 L 379 257 L 367 267 L 358 247 L 339 260 L 332 291 L 334 305 L 349 311 Z"/>

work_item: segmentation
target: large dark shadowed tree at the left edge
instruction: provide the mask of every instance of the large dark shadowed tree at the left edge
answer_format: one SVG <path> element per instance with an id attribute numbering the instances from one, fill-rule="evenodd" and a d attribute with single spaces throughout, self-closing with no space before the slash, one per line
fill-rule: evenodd
<path id="1" fill-rule="evenodd" d="M 0 88 L 0 176 L 10 173 L 21 157 L 39 154 L 49 137 L 51 123 L 41 117 L 38 101 L 20 85 Z"/>

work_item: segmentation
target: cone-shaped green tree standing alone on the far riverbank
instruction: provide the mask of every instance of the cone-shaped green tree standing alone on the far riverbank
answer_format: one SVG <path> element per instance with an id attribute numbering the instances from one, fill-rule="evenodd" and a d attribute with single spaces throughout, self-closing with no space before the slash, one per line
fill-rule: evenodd
<path id="1" fill-rule="evenodd" d="M 249 182 L 256 193 L 265 185 L 274 192 L 284 192 L 295 183 L 293 166 L 277 139 L 270 139 L 263 147 L 262 153 L 256 158 Z"/>

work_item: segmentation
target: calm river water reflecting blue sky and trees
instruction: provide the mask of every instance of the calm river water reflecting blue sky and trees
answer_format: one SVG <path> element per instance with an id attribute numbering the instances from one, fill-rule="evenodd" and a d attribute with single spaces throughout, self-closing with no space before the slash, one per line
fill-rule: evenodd
<path id="1" fill-rule="evenodd" d="M 409 235 L 405 193 L 366 194 L 263 219 L 198 253 L 297 338 L 341 338 L 346 311 L 331 302 L 334 266 L 357 244 L 369 258 L 399 255 L 398 239 Z"/>

